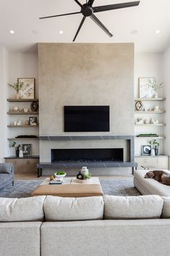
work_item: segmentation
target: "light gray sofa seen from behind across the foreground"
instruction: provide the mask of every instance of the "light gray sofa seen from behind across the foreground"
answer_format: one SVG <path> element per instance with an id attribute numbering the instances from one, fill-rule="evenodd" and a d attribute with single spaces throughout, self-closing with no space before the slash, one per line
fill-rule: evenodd
<path id="1" fill-rule="evenodd" d="M 0 197 L 0 256 L 167 256 L 170 197 Z"/>

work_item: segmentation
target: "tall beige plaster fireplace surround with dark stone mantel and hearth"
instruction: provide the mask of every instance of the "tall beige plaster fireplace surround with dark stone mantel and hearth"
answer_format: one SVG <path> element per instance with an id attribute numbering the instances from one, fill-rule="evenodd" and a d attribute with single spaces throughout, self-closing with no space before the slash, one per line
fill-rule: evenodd
<path id="1" fill-rule="evenodd" d="M 56 163 L 54 152 L 59 149 L 80 149 L 81 153 L 122 149 L 122 161 L 116 164 L 108 159 L 90 159 L 90 164 L 81 159 L 68 165 L 68 159 L 61 159 L 54 168 L 65 168 L 73 175 L 87 163 L 91 174 L 130 174 L 134 163 L 133 43 L 40 43 L 38 56 L 40 162 Z M 63 132 L 64 106 L 106 105 L 109 132 Z M 51 168 L 44 171 L 53 172 Z"/>

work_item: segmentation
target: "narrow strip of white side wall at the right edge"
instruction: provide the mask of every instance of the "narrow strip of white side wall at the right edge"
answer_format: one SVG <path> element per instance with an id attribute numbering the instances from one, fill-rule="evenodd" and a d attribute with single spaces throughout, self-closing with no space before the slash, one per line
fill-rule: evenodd
<path id="1" fill-rule="evenodd" d="M 165 127 L 165 134 L 166 134 L 166 140 L 164 143 L 164 152 L 167 155 L 170 155 L 170 46 L 166 49 L 164 52 L 164 90 L 166 95 L 166 103 L 165 107 L 167 110 L 166 113 L 166 127 Z"/>

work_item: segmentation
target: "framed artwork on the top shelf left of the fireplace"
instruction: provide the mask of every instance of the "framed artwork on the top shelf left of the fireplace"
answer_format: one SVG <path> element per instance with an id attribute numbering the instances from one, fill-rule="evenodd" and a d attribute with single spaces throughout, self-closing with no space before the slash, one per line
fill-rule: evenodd
<path id="1" fill-rule="evenodd" d="M 18 82 L 23 82 L 22 89 L 19 92 L 20 98 L 35 98 L 35 78 L 18 78 Z"/>

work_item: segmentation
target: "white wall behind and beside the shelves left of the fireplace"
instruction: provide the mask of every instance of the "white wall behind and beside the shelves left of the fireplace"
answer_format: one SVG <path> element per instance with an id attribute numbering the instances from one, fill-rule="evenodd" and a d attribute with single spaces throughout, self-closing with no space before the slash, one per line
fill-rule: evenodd
<path id="1" fill-rule="evenodd" d="M 17 135 L 38 135 L 37 128 L 7 128 L 7 124 L 13 124 L 17 119 L 24 121 L 29 116 L 9 116 L 6 114 L 13 106 L 19 108 L 30 107 L 30 103 L 9 103 L 6 98 L 14 98 L 15 91 L 7 84 L 17 82 L 18 77 L 35 77 L 35 97 L 38 98 L 38 65 L 37 54 L 32 53 L 8 53 L 0 46 L 0 161 L 4 156 L 14 155 L 14 148 L 10 147 L 8 137 Z M 19 143 L 23 143 L 20 141 Z M 31 142 L 32 154 L 39 155 L 39 143 Z"/>

